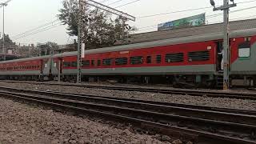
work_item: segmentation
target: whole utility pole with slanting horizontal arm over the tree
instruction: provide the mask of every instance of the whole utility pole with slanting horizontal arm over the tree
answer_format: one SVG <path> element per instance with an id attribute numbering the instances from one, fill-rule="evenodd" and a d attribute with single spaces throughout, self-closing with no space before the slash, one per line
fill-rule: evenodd
<path id="1" fill-rule="evenodd" d="M 84 30 L 84 23 L 82 18 L 84 18 L 85 13 L 85 6 L 94 6 L 100 10 L 104 10 L 106 12 L 109 12 L 111 14 L 118 15 L 120 18 L 126 18 L 127 20 L 135 21 L 135 17 L 131 16 L 130 14 L 123 13 L 120 10 L 115 10 L 114 8 L 110 6 L 103 5 L 100 2 L 95 2 L 93 0 L 79 0 L 79 13 L 78 13 L 78 71 L 77 71 L 77 83 L 81 82 L 81 70 L 82 70 L 82 57 L 84 57 L 84 53 L 82 53 L 82 49 L 85 48 L 84 42 L 86 42 L 86 34 Z M 124 24 L 123 24 L 124 26 Z M 123 33 L 124 34 L 124 33 Z M 83 55 L 82 55 L 83 54 Z"/>

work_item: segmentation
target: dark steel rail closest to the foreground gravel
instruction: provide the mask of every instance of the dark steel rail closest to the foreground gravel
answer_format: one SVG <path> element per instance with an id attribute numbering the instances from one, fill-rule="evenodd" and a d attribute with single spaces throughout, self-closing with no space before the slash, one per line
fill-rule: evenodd
<path id="1" fill-rule="evenodd" d="M 111 114 L 111 113 L 106 113 L 98 110 L 83 109 L 77 106 L 62 105 L 54 102 L 45 102 L 45 101 L 37 100 L 33 98 L 19 97 L 15 94 L 5 94 L 5 96 L 11 97 L 11 98 L 23 99 L 30 102 L 38 102 L 40 104 L 45 104 L 45 105 L 54 106 L 54 107 L 58 106 L 67 110 L 75 110 L 75 111 L 86 113 L 86 114 L 97 114 L 104 117 L 122 120 L 124 122 L 133 122 L 134 126 L 145 127 L 146 129 L 150 129 L 150 130 L 156 130 L 166 135 L 175 135 L 176 137 L 183 137 L 183 138 L 190 138 L 190 139 L 193 138 L 192 140 L 194 140 L 194 138 L 202 138 L 202 139 L 208 138 L 210 139 L 211 142 L 214 142 L 215 140 L 217 140 L 217 142 L 229 142 L 229 143 L 232 142 L 237 144 L 242 144 L 242 143 L 255 144 L 256 143 L 248 139 L 233 138 L 231 136 L 224 136 L 222 134 L 213 134 L 213 133 L 202 131 L 202 130 L 191 130 L 191 129 L 179 127 L 179 126 L 168 126 L 158 122 L 150 122 L 150 121 L 142 120 L 140 118 L 122 116 L 120 114 Z"/>

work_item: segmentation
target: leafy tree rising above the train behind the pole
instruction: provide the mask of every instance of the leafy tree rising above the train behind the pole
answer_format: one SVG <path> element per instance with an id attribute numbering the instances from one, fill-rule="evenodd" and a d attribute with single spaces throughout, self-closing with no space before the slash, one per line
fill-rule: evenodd
<path id="1" fill-rule="evenodd" d="M 63 25 L 67 25 L 67 34 L 78 35 L 78 0 L 64 0 L 63 8 L 59 10 L 58 18 Z M 111 19 L 111 14 L 105 11 L 86 7 L 86 48 L 99 48 L 113 46 L 115 42 L 122 40 L 122 19 Z M 126 25 L 130 27 L 129 25 Z M 125 35 L 129 30 L 125 30 Z"/>

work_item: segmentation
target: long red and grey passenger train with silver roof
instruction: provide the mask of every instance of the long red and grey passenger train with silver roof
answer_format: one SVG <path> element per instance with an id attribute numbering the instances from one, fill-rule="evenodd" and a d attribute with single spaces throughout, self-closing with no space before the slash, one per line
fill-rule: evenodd
<path id="1" fill-rule="evenodd" d="M 222 86 L 223 34 L 86 50 L 82 81 Z M 256 86 L 256 29 L 230 32 L 230 86 Z M 78 52 L 0 62 L 0 79 L 75 81 Z"/>

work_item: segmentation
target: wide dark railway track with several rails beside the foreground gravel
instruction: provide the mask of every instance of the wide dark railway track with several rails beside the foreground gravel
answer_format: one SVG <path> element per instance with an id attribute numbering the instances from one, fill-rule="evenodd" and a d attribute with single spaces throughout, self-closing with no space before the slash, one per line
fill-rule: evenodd
<path id="1" fill-rule="evenodd" d="M 256 143 L 256 111 L 0 87 L 0 96 L 131 122 L 172 137 Z"/>

